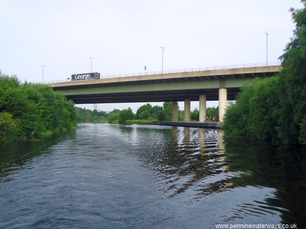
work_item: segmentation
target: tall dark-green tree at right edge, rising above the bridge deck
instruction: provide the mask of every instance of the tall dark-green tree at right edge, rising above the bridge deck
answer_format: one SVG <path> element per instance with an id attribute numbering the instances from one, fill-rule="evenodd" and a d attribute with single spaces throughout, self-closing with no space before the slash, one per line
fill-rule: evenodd
<path id="1" fill-rule="evenodd" d="M 301 3 L 304 8 L 290 9 L 296 24 L 295 30 L 293 38 L 284 50 L 285 53 L 279 58 L 284 67 L 280 77 L 286 93 L 286 98 L 283 96 L 282 99 L 280 119 L 286 125 L 279 126 L 277 131 L 288 139 L 289 144 L 297 143 L 298 139 L 299 142 L 306 142 L 306 136 L 303 134 L 306 131 L 306 1 L 301 0 Z M 291 112 L 289 119 L 288 109 Z"/>

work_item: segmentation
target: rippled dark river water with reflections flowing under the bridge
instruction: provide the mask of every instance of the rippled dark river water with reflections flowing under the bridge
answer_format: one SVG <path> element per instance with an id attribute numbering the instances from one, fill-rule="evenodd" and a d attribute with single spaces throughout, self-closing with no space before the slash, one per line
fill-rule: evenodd
<path id="1" fill-rule="evenodd" d="M 0 228 L 305 228 L 305 153 L 218 129 L 80 124 L 2 146 Z"/>

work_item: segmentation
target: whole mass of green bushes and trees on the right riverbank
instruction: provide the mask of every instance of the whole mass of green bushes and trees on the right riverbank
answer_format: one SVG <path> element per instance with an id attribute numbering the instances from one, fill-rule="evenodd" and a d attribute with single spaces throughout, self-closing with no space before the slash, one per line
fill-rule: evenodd
<path id="1" fill-rule="evenodd" d="M 306 145 L 306 1 L 301 2 L 303 9 L 291 9 L 296 29 L 280 58 L 283 70 L 242 87 L 225 114 L 227 132 Z"/>

